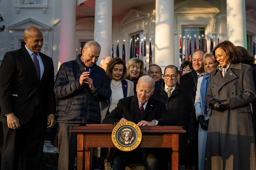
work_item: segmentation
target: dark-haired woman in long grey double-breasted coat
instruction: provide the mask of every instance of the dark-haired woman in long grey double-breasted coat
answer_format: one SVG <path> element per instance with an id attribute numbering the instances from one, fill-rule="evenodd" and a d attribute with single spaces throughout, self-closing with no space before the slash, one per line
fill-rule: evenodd
<path id="1" fill-rule="evenodd" d="M 205 104 L 211 108 L 205 170 L 255 170 L 256 150 L 250 102 L 255 100 L 252 67 L 241 64 L 233 43 L 212 51 L 219 66 L 209 75 Z"/>

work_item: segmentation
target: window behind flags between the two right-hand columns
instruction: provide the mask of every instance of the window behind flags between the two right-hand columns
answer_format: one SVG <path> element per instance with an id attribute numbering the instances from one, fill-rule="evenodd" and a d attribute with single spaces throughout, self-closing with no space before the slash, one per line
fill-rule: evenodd
<path id="1" fill-rule="evenodd" d="M 193 56 L 194 53 L 194 40 L 195 37 L 194 35 L 196 34 L 196 45 L 197 45 L 197 49 L 198 49 L 198 36 L 201 37 L 200 39 L 200 44 L 201 44 L 201 49 L 205 50 L 205 39 L 203 42 L 204 48 L 202 46 L 202 34 L 205 37 L 205 27 L 196 27 L 196 26 L 183 26 L 182 27 L 182 34 L 181 34 L 181 46 L 183 48 L 183 36 L 185 36 L 185 54 L 187 54 L 187 35 L 191 36 L 191 56 Z M 208 37 L 210 38 L 210 37 Z M 183 50 L 183 49 L 182 49 Z"/>

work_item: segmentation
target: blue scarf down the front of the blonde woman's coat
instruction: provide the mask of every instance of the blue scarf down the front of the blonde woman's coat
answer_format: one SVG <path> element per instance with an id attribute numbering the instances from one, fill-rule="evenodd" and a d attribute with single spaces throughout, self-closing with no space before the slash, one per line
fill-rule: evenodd
<path id="1" fill-rule="evenodd" d="M 206 116 L 206 111 L 207 111 L 207 107 L 204 103 L 204 98 L 205 98 L 206 93 L 207 93 L 208 85 L 209 85 L 209 74 L 206 73 L 206 74 L 203 75 L 203 80 L 202 80 L 201 88 L 200 88 L 201 108 L 202 108 L 204 116 Z"/>

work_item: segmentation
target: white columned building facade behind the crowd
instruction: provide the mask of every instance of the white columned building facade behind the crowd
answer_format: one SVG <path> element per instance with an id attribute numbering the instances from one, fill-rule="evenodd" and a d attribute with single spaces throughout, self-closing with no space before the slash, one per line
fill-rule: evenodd
<path id="1" fill-rule="evenodd" d="M 244 46 L 253 53 L 256 39 L 255 0 L 0 0 L 0 13 L 4 19 L 0 25 L 0 60 L 6 52 L 24 45 L 23 32 L 28 26 L 40 28 L 44 34 L 41 52 L 53 58 L 55 73 L 63 62 L 74 60 L 76 52 L 87 41 L 101 45 L 97 64 L 114 56 L 119 40 L 119 57 L 122 58 L 122 41 L 125 39 L 125 61 L 132 56 L 134 40 L 146 41 L 146 66 L 149 63 L 150 41 L 152 63 L 165 68 L 169 64 L 179 66 L 179 38 L 183 47 L 185 36 L 191 36 L 192 55 L 194 40 L 198 49 L 198 37 L 207 43 L 210 36 L 213 46 L 226 39 L 236 46 Z M 196 38 L 194 38 L 196 35 Z M 219 35 L 219 36 L 218 36 Z M 188 36 L 188 37 L 187 37 Z M 207 38 L 206 38 L 207 36 Z M 150 40 L 151 39 L 151 40 Z M 202 42 L 201 42 L 202 46 Z M 202 48 L 202 47 L 201 47 Z"/>

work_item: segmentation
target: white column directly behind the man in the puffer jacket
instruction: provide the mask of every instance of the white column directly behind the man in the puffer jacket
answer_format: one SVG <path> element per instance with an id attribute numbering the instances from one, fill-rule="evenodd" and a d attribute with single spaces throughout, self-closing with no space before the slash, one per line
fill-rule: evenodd
<path id="1" fill-rule="evenodd" d="M 95 1 L 94 41 L 101 46 L 99 62 L 111 56 L 112 48 L 112 0 Z"/>

